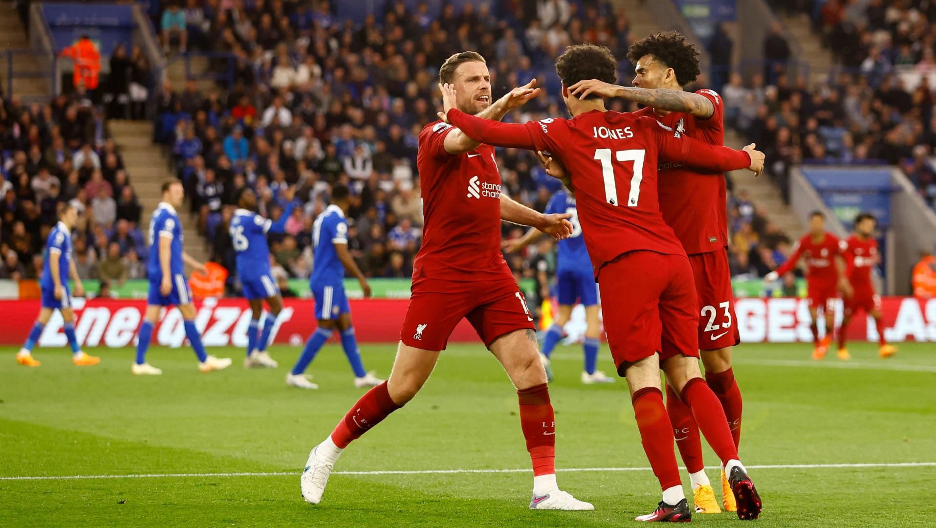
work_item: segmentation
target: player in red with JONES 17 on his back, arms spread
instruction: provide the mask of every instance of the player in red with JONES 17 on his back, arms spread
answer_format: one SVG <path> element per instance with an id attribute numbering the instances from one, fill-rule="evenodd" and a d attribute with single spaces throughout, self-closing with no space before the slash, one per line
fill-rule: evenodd
<path id="1" fill-rule="evenodd" d="M 662 366 L 709 445 L 724 463 L 741 519 L 755 519 L 761 502 L 738 460 L 722 405 L 702 381 L 693 271 L 657 198 L 657 158 L 724 171 L 763 169 L 764 156 L 709 146 L 649 117 L 605 110 L 597 95 L 579 99 L 567 86 L 583 79 L 615 81 L 616 60 L 604 47 L 570 46 L 556 63 L 571 120 L 525 125 L 481 120 L 457 110 L 446 85 L 448 119 L 469 137 L 493 145 L 548 151 L 569 169 L 588 253 L 605 302 L 607 341 L 626 377 L 637 427 L 663 501 L 637 521 L 689 521 L 673 452 L 673 430 L 659 389 Z M 451 108 L 451 110 L 448 110 Z M 614 300 L 613 302 L 610 300 Z M 660 352 L 657 352 L 660 351 Z"/>

